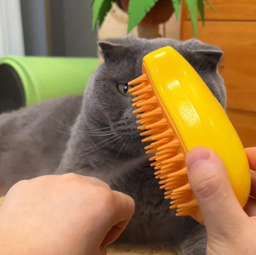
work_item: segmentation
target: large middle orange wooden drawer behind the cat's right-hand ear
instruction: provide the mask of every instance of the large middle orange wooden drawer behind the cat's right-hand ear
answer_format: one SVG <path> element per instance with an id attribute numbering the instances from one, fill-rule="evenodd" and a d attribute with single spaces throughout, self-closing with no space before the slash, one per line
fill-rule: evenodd
<path id="1" fill-rule="evenodd" d="M 183 21 L 181 39 L 193 37 L 190 21 Z M 256 112 L 256 22 L 199 22 L 198 39 L 224 51 L 221 75 L 228 108 Z"/>

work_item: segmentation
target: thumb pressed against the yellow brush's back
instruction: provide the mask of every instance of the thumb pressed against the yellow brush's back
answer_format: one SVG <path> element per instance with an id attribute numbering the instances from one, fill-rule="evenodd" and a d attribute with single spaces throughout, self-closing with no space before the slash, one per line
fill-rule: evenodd
<path id="1" fill-rule="evenodd" d="M 207 232 L 218 236 L 232 233 L 230 230 L 246 214 L 235 197 L 222 160 L 213 151 L 197 147 L 188 152 L 186 165 Z"/>

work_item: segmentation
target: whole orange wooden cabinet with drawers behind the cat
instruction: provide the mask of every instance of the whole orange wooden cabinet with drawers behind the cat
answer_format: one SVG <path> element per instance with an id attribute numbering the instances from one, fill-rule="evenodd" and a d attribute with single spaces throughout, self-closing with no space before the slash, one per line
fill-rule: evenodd
<path id="1" fill-rule="evenodd" d="M 224 51 L 220 73 L 227 88 L 227 114 L 244 146 L 256 145 L 256 1 L 211 0 L 217 12 L 205 8 L 198 39 Z M 182 40 L 193 37 L 183 5 Z"/>

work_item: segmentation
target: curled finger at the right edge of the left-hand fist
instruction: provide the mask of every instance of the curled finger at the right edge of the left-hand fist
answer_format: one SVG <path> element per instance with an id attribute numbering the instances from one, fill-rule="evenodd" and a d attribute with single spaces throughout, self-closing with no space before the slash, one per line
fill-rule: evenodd
<path id="1" fill-rule="evenodd" d="M 104 238 L 102 245 L 114 242 L 128 225 L 134 210 L 134 200 L 121 192 L 113 191 L 115 196 L 114 211 L 112 214 L 111 229 Z"/>

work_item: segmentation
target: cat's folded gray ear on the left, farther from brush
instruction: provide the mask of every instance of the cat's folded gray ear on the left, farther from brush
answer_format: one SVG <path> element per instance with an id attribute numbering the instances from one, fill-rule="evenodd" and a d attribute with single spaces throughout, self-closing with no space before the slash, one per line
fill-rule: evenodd
<path id="1" fill-rule="evenodd" d="M 127 48 L 124 45 L 107 41 L 99 41 L 98 46 L 105 62 L 118 62 L 127 51 Z"/>

